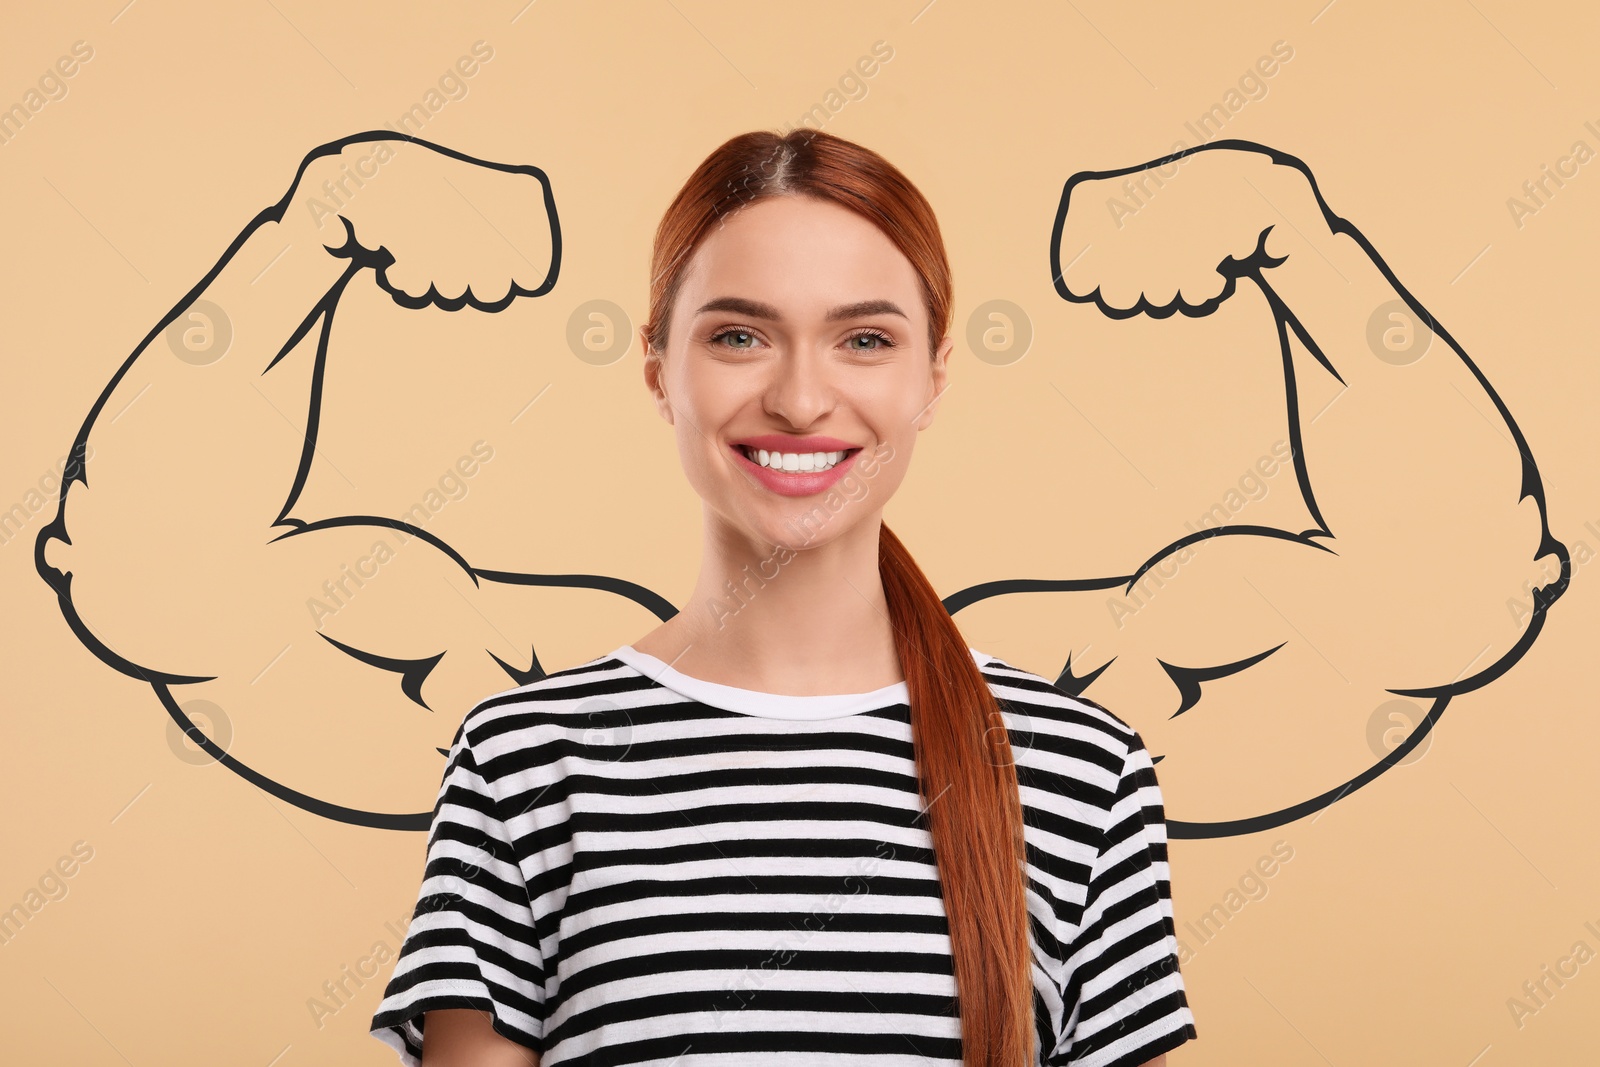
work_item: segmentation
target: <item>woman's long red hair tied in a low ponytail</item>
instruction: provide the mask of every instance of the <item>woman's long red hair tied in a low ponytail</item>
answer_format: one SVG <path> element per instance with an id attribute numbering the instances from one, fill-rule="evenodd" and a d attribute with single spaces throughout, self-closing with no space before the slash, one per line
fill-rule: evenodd
<path id="1" fill-rule="evenodd" d="M 915 269 L 928 355 L 950 322 L 950 264 L 926 198 L 882 155 L 829 133 L 744 133 L 723 142 L 672 200 L 651 254 L 650 347 L 666 352 L 683 267 L 726 216 L 798 195 L 861 214 Z M 1000 705 L 928 577 L 886 525 L 878 574 L 910 689 L 918 790 L 939 872 L 966 1067 L 1034 1062 L 1034 982 L 1024 896 L 1022 803 Z"/>

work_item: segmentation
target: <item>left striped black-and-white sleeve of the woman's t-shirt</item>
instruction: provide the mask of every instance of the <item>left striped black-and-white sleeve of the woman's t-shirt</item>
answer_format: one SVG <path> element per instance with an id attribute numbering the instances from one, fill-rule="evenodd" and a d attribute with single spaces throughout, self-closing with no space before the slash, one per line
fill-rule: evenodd
<path id="1" fill-rule="evenodd" d="M 419 1067 L 435 1008 L 477 1008 L 494 1030 L 544 1051 L 544 960 L 528 885 L 501 803 L 456 733 L 434 806 L 416 910 L 371 1033 Z"/>

